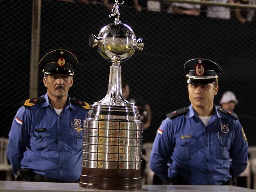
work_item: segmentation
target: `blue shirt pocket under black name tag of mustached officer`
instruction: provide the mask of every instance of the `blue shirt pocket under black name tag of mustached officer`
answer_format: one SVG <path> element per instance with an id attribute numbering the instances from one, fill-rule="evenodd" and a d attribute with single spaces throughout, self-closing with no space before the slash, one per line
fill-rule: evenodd
<path id="1" fill-rule="evenodd" d="M 35 128 L 32 130 L 31 145 L 33 145 L 36 150 L 44 150 L 48 148 L 50 145 L 50 133 L 51 130 L 48 128 Z"/>

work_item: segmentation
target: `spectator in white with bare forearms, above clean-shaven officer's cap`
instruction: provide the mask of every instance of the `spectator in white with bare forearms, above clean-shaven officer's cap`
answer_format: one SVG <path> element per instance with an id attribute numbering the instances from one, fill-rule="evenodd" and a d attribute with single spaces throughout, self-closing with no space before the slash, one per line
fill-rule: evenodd
<path id="1" fill-rule="evenodd" d="M 173 13 L 176 14 L 187 14 L 187 15 L 200 15 L 200 4 L 188 4 L 188 3 L 172 3 Z"/>

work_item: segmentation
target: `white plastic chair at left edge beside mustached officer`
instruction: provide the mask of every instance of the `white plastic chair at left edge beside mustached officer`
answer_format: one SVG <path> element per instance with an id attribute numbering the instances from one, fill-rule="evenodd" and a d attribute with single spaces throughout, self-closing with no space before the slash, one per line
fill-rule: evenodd
<path id="1" fill-rule="evenodd" d="M 4 137 L 0 137 L 0 171 L 6 172 L 6 180 L 12 180 L 12 166 L 8 164 L 7 156 L 6 156 L 6 146 L 8 143 L 8 139 Z"/>

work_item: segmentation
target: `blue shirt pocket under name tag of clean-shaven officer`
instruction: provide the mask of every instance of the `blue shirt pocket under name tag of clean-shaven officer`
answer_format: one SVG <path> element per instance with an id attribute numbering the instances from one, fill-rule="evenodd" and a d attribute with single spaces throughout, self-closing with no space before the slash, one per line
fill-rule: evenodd
<path id="1" fill-rule="evenodd" d="M 196 159 L 196 138 L 176 140 L 176 155 L 182 160 Z"/>

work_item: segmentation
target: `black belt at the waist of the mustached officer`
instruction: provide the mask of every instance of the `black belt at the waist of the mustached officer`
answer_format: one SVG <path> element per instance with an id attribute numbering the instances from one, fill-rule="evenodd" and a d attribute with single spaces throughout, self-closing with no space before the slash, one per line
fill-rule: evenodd
<path id="1" fill-rule="evenodd" d="M 35 181 L 35 182 L 54 182 L 54 183 L 79 183 L 80 179 L 74 181 L 52 180 L 43 175 L 33 172 L 31 169 L 22 169 L 15 174 L 15 181 Z"/>

